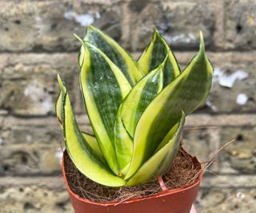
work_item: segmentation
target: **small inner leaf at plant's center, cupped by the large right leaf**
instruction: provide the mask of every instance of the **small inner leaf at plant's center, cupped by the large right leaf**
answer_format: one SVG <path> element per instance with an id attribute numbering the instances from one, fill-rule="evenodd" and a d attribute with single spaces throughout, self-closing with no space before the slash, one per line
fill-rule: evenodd
<path id="1" fill-rule="evenodd" d="M 122 122 L 131 137 L 134 137 L 138 120 L 146 107 L 162 91 L 162 68 L 165 63 L 166 60 L 162 61 L 161 65 L 143 77 L 122 102 Z"/>

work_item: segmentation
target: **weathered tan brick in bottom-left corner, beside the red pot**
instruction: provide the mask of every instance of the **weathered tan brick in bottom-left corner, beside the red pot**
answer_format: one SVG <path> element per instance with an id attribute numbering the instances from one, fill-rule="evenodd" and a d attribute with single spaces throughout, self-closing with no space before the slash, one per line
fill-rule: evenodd
<path id="1" fill-rule="evenodd" d="M 0 212 L 72 212 L 62 178 L 2 178 Z"/>

